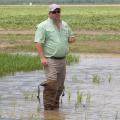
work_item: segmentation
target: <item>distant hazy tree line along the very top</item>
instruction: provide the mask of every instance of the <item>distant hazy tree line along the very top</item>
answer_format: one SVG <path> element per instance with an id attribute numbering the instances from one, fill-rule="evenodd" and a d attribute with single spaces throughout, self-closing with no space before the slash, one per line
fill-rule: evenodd
<path id="1" fill-rule="evenodd" d="M 0 0 L 2 4 L 119 4 L 120 0 Z"/>

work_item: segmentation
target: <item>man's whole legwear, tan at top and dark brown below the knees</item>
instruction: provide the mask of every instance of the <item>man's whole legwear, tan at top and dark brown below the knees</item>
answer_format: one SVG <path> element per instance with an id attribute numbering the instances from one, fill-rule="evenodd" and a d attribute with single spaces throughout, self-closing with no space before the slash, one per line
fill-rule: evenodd
<path id="1" fill-rule="evenodd" d="M 47 59 L 48 64 L 44 66 L 47 81 L 41 85 L 44 86 L 43 101 L 45 110 L 54 110 L 59 108 L 59 99 L 64 88 L 66 75 L 65 59 Z"/>

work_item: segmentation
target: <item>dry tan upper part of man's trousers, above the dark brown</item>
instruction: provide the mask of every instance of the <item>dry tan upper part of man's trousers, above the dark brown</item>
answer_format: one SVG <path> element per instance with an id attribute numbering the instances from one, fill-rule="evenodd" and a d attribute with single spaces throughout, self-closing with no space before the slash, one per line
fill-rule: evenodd
<path id="1" fill-rule="evenodd" d="M 44 66 L 47 80 L 57 80 L 57 87 L 63 87 L 66 75 L 65 59 L 47 59 L 47 65 Z"/>

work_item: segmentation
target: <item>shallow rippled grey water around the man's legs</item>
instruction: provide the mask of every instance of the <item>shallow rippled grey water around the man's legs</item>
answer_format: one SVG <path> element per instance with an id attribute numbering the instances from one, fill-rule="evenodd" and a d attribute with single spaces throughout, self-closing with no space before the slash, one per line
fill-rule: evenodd
<path id="1" fill-rule="evenodd" d="M 43 71 L 1 77 L 0 120 L 120 120 L 119 56 L 80 55 L 78 64 L 67 66 L 59 111 L 43 110 L 42 92 L 38 104 L 44 79 Z"/>

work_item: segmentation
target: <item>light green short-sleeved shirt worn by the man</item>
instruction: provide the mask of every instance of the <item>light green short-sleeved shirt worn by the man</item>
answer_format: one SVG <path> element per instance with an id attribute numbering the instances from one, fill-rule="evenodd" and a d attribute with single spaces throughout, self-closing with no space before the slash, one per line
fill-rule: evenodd
<path id="1" fill-rule="evenodd" d="M 48 18 L 37 26 L 34 42 L 43 44 L 46 57 L 64 57 L 69 51 L 70 36 L 73 36 L 73 32 L 66 22 L 61 21 L 60 30 L 58 30 L 53 20 Z"/>

